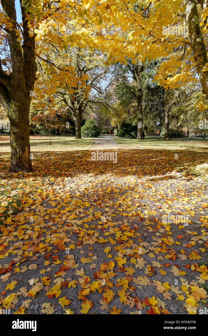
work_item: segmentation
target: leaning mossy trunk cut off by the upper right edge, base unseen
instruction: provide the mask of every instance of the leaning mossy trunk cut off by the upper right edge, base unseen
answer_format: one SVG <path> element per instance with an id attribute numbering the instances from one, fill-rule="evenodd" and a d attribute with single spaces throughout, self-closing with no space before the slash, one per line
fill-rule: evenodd
<path id="1" fill-rule="evenodd" d="M 204 1 L 205 5 L 207 1 Z M 199 26 L 199 17 L 195 0 L 185 0 L 186 22 L 191 38 L 196 70 L 202 86 L 202 92 L 208 98 L 208 71 L 203 72 L 203 67 L 208 62 L 204 39 Z"/>

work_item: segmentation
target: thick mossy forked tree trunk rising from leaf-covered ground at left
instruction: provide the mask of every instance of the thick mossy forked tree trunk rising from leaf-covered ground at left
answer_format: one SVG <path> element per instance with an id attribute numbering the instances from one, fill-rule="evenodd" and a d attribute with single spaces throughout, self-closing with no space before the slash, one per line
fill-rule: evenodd
<path id="1" fill-rule="evenodd" d="M 0 64 L 0 102 L 10 121 L 11 172 L 32 171 L 29 145 L 29 108 L 36 76 L 34 36 L 29 36 L 25 18 L 29 1 L 20 0 L 22 13 L 23 52 L 17 41 L 16 11 L 14 0 L 1 0 L 4 16 L 13 24 L 6 30 L 12 75 L 7 75 Z"/>

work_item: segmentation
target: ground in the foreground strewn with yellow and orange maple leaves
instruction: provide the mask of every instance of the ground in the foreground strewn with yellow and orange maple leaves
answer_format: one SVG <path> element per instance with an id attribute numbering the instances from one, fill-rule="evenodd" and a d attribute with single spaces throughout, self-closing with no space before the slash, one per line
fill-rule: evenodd
<path id="1" fill-rule="evenodd" d="M 208 305 L 207 149 L 177 148 L 176 160 L 163 144 L 118 146 L 113 163 L 91 161 L 87 146 L 31 146 L 29 174 L 8 173 L 1 147 L 0 309 L 199 313 Z M 163 223 L 168 213 L 188 215 L 188 226 Z"/>

